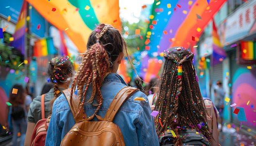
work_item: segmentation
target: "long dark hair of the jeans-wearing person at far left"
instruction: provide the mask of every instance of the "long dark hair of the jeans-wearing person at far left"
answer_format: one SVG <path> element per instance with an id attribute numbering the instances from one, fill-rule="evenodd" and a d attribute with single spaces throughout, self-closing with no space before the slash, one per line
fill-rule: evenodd
<path id="1" fill-rule="evenodd" d="M 13 94 L 12 91 L 18 89 L 17 94 Z M 21 84 L 14 84 L 9 93 L 9 102 L 12 106 L 18 106 L 18 104 L 25 103 L 25 94 L 24 94 L 24 87 Z"/>

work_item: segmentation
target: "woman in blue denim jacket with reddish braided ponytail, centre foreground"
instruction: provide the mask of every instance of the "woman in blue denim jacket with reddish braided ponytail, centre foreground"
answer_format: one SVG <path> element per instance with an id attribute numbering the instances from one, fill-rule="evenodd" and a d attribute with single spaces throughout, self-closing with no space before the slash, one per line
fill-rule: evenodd
<path id="1" fill-rule="evenodd" d="M 81 100 L 79 109 L 83 108 L 86 115 L 94 116 L 97 113 L 104 117 L 115 95 L 127 86 L 117 74 L 119 64 L 124 57 L 124 49 L 126 49 L 124 38 L 119 30 L 111 25 L 99 24 L 90 34 L 87 50 L 81 54 L 82 62 L 74 77 L 70 96 L 70 101 L 73 93 L 79 97 Z M 75 124 L 64 94 L 55 100 L 52 113 L 45 145 L 59 146 L 63 137 Z M 150 113 L 148 98 L 141 91 L 135 92 L 121 106 L 113 122 L 121 129 L 126 146 L 159 144 Z M 92 121 L 97 120 L 95 116 L 92 119 Z"/>

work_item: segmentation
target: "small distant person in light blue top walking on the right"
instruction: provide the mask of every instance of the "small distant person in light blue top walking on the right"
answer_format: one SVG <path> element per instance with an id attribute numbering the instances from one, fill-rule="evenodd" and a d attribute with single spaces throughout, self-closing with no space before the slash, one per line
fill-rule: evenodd
<path id="1" fill-rule="evenodd" d="M 224 109 L 224 97 L 225 97 L 225 91 L 222 88 L 222 82 L 217 81 L 217 88 L 214 90 L 214 104 L 216 106 L 216 108 L 219 111 L 219 124 L 220 124 L 220 131 L 222 131 L 222 122 L 223 122 L 223 109 Z"/>

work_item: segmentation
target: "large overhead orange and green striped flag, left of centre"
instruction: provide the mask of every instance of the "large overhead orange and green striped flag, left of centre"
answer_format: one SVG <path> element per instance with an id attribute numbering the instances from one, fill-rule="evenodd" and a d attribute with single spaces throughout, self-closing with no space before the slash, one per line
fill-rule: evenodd
<path id="1" fill-rule="evenodd" d="M 65 31 L 80 53 L 95 24 L 121 29 L 119 0 L 27 0 L 47 21 Z"/>

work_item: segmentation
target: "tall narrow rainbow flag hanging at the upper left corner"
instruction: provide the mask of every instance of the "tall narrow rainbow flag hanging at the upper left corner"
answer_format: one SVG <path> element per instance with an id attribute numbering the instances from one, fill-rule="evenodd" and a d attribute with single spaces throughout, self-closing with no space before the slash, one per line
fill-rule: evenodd
<path id="1" fill-rule="evenodd" d="M 26 29 L 26 17 L 27 17 L 27 2 L 24 0 L 18 21 L 16 24 L 15 32 L 12 35 L 13 42 L 10 43 L 15 49 L 18 49 L 22 55 L 25 54 L 25 29 Z"/>

